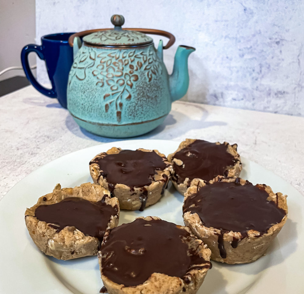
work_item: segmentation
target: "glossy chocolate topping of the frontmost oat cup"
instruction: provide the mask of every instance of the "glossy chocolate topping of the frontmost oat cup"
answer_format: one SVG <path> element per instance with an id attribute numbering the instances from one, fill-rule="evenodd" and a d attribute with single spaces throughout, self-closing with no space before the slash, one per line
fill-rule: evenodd
<path id="1" fill-rule="evenodd" d="M 117 284 L 136 286 L 152 273 L 185 279 L 189 269 L 209 268 L 185 240 L 193 237 L 163 220 L 136 219 L 111 230 L 102 244 L 102 274 Z"/>

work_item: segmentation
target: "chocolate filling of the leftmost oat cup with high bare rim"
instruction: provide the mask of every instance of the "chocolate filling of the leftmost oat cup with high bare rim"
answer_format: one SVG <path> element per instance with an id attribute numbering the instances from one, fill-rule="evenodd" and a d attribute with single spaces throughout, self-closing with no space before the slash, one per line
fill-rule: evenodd
<path id="1" fill-rule="evenodd" d="M 79 231 L 96 237 L 101 242 L 111 215 L 118 214 L 117 206 L 113 208 L 106 204 L 104 198 L 91 202 L 78 197 L 68 197 L 55 204 L 38 206 L 35 216 L 57 229 L 57 232 L 66 226 L 75 226 Z"/>

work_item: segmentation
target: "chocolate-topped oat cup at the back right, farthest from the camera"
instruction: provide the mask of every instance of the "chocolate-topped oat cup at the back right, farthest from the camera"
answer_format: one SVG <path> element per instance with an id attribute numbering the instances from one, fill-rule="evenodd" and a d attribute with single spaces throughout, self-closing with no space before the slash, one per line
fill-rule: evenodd
<path id="1" fill-rule="evenodd" d="M 229 145 L 227 142 L 186 139 L 174 153 L 168 155 L 168 160 L 174 170 L 171 181 L 181 195 L 193 179 L 208 182 L 218 175 L 238 177 L 242 170 L 237 144 Z"/>

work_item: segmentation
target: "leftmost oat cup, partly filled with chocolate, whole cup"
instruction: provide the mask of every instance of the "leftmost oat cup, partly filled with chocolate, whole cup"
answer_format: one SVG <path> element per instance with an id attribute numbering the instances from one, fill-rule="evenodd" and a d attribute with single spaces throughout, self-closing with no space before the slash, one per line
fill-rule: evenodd
<path id="1" fill-rule="evenodd" d="M 63 189 L 57 184 L 25 212 L 36 246 L 62 260 L 97 255 L 105 230 L 116 227 L 118 221 L 118 199 L 92 183 Z"/>

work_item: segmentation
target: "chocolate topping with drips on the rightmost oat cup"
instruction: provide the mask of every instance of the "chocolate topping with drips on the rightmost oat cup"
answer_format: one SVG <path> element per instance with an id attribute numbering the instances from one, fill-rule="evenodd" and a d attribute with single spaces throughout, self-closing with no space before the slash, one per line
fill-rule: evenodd
<path id="1" fill-rule="evenodd" d="M 261 236 L 272 225 L 282 221 L 285 210 L 278 208 L 274 201 L 268 201 L 267 197 L 264 189 L 248 181 L 240 185 L 237 178 L 235 182 L 215 182 L 200 188 L 185 199 L 183 212 L 197 213 L 204 226 L 221 230 L 219 251 L 221 257 L 226 258 L 224 233 L 240 232 L 244 238 L 247 231 L 255 230 Z M 233 238 L 231 246 L 236 248 L 239 241 Z"/>

